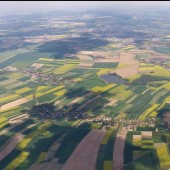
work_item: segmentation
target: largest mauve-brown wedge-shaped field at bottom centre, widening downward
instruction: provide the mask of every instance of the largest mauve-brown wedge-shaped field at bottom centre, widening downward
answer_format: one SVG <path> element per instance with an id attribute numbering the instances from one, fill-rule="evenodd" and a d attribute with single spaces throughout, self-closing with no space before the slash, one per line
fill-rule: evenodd
<path id="1" fill-rule="evenodd" d="M 104 130 L 91 130 L 61 170 L 95 170 L 99 146 L 105 133 Z"/>

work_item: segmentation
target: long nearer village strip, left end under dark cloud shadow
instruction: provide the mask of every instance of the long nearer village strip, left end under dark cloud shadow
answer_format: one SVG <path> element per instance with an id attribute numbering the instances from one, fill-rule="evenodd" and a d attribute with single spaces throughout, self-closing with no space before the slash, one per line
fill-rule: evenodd
<path id="1" fill-rule="evenodd" d="M 88 114 L 87 112 L 82 111 L 68 111 L 66 109 L 55 109 L 52 104 L 43 103 L 38 104 L 32 107 L 27 113 L 22 113 L 17 116 L 13 116 L 9 118 L 9 122 L 16 123 L 20 121 L 20 119 L 26 119 L 29 117 L 37 117 L 41 119 L 52 119 L 52 120 L 61 120 L 65 121 L 75 121 L 75 120 L 83 120 L 88 124 L 100 124 L 105 127 L 123 127 L 127 131 L 136 131 L 137 127 L 158 127 L 170 130 L 170 125 L 157 118 L 146 118 L 145 120 L 134 120 L 128 118 L 113 118 L 107 117 L 106 115 L 94 116 L 92 114 Z"/>

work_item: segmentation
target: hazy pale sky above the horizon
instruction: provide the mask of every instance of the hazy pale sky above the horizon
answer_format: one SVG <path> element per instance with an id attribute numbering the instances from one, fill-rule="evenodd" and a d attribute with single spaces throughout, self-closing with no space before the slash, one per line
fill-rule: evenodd
<path id="1" fill-rule="evenodd" d="M 52 10 L 87 10 L 117 8 L 170 8 L 168 1 L 0 1 L 0 15 L 48 12 Z"/>

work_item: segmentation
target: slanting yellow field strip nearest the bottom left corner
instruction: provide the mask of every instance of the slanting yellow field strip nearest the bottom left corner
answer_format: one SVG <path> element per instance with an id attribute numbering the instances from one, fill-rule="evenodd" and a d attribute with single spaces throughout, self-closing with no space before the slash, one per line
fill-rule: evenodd
<path id="1" fill-rule="evenodd" d="M 17 156 L 9 165 L 7 165 L 4 170 L 12 170 L 15 169 L 19 164 L 21 164 L 24 160 L 29 156 L 29 152 L 21 152 L 19 156 Z"/>

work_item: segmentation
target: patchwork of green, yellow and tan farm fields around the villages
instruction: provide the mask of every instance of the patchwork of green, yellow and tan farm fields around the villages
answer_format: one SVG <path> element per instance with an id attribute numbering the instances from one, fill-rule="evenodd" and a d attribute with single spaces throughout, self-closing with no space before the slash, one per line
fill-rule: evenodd
<path id="1" fill-rule="evenodd" d="M 166 68 L 140 63 L 131 47 L 124 47 L 123 52 L 81 51 L 74 58 L 62 59 L 21 51 L 4 53 L 9 56 L 6 60 L 0 57 L 0 169 L 158 170 L 170 165 L 169 132 L 161 133 L 160 127 L 156 131 L 152 124 L 161 109 L 170 109 Z M 19 67 L 22 71 L 15 71 Z M 26 69 L 34 70 L 34 75 Z M 35 76 L 39 71 L 47 81 Z M 128 83 L 100 78 L 109 73 Z M 58 75 L 72 83 L 48 83 L 48 77 Z M 48 110 L 46 117 L 37 116 L 31 110 L 44 103 L 52 103 L 64 116 L 57 119 Z M 27 112 L 29 118 L 9 123 Z"/>

